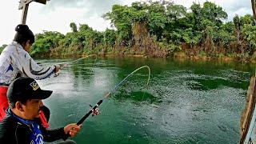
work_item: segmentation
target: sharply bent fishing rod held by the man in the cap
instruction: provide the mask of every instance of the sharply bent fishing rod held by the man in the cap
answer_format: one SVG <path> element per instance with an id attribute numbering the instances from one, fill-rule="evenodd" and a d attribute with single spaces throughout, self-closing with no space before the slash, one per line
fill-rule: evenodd
<path id="1" fill-rule="evenodd" d="M 121 82 L 119 82 L 116 86 L 114 86 L 114 88 L 112 90 L 110 90 L 109 93 L 107 93 L 103 99 L 99 100 L 96 105 L 94 107 L 92 107 L 78 122 L 77 122 L 77 125 L 81 125 L 85 120 L 86 118 L 88 118 L 90 116 L 90 114 L 92 114 L 95 110 L 98 109 L 98 106 L 100 106 L 103 102 L 103 100 L 105 100 L 106 98 L 110 98 L 110 96 L 112 94 L 114 94 L 117 90 L 119 90 L 119 88 L 128 80 L 128 78 L 130 78 L 135 72 L 137 72 L 138 70 L 141 70 L 143 68 L 147 68 L 149 70 L 149 76 L 148 76 L 148 79 L 147 79 L 147 82 L 146 82 L 146 85 L 149 84 L 150 82 L 150 67 L 149 66 L 142 66 L 142 67 L 139 67 L 138 69 L 134 70 L 133 72 L 131 72 L 130 74 L 128 74 L 126 76 L 126 78 L 123 78 Z M 70 137 L 70 134 L 66 134 L 65 137 L 63 138 L 64 140 L 66 140 L 67 138 Z"/>

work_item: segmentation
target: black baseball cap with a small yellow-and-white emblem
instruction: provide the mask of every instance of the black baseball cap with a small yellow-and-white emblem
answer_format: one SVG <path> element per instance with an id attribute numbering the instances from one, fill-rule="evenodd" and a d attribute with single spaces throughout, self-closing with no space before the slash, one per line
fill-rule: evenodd
<path id="1" fill-rule="evenodd" d="M 7 91 L 9 102 L 18 102 L 28 99 L 46 99 L 53 93 L 52 90 L 41 90 L 33 78 L 17 78 L 10 83 Z"/>

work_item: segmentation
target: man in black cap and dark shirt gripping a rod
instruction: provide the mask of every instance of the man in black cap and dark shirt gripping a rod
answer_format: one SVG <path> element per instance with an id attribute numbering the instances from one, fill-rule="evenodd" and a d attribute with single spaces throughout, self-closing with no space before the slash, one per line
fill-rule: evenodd
<path id="1" fill-rule="evenodd" d="M 33 78 L 18 78 L 12 82 L 7 91 L 10 108 L 7 116 L 0 123 L 0 143 L 40 143 L 54 142 L 66 138 L 66 134 L 74 137 L 81 126 L 75 123 L 56 130 L 46 130 L 39 118 L 42 99 L 50 97 L 52 91 L 41 90 Z"/>

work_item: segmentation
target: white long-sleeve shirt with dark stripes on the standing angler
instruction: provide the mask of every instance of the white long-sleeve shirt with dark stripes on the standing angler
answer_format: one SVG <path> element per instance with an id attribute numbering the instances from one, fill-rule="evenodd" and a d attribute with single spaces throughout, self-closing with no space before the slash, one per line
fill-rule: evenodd
<path id="1" fill-rule="evenodd" d="M 42 67 L 34 62 L 18 42 L 12 42 L 0 54 L 0 85 L 9 85 L 14 78 L 48 78 L 55 66 Z"/>

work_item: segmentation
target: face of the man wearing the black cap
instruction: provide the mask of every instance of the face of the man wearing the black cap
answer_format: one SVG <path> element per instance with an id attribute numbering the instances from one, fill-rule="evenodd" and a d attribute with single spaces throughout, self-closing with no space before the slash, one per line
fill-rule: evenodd
<path id="1" fill-rule="evenodd" d="M 26 104 L 22 105 L 24 110 L 24 117 L 28 120 L 39 118 L 39 110 L 42 107 L 41 99 L 30 99 L 26 101 Z"/>

